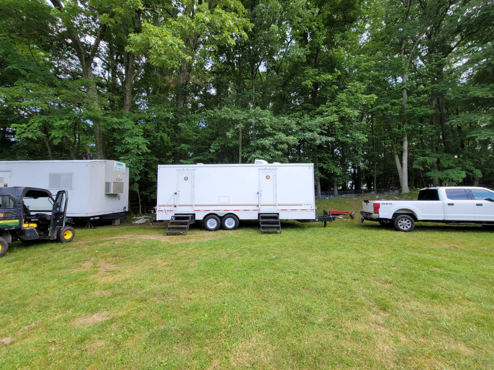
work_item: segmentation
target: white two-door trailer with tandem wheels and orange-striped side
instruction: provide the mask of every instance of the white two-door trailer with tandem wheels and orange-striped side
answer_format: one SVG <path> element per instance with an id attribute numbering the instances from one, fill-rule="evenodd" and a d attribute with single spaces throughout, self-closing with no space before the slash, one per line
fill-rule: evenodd
<path id="1" fill-rule="evenodd" d="M 259 220 L 262 229 L 267 215 L 316 221 L 314 165 L 159 165 L 156 211 L 157 220 L 192 216 L 211 231 L 236 229 L 239 220 Z"/>

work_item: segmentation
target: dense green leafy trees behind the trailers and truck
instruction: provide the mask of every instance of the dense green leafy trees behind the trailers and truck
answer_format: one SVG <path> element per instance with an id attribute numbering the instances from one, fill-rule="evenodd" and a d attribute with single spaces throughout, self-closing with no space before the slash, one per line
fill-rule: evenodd
<path id="1" fill-rule="evenodd" d="M 2 0 L 0 158 L 310 162 L 315 190 L 494 182 L 492 0 Z"/>

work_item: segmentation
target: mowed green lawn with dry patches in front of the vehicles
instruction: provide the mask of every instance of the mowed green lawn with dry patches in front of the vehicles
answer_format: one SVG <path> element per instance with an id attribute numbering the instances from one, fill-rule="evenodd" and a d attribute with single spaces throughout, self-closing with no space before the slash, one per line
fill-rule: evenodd
<path id="1" fill-rule="evenodd" d="M 318 208 L 358 212 L 360 199 Z M 200 226 L 11 244 L 0 369 L 494 369 L 492 231 Z"/>

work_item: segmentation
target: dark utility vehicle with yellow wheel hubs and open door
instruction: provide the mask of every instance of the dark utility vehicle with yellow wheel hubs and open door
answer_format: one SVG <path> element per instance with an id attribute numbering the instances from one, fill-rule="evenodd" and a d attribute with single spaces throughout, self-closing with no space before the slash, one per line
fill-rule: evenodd
<path id="1" fill-rule="evenodd" d="M 35 242 L 40 239 L 68 243 L 75 231 L 66 223 L 68 194 L 57 192 L 55 199 L 49 190 L 37 187 L 0 187 L 0 257 L 13 241 Z"/>

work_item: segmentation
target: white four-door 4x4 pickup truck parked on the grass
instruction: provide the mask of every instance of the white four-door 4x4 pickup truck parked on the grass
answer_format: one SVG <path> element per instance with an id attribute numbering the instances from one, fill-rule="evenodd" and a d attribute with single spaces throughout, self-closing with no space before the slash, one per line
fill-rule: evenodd
<path id="1" fill-rule="evenodd" d="M 473 186 L 425 187 L 417 200 L 364 200 L 360 213 L 361 222 L 377 221 L 399 231 L 412 231 L 417 221 L 494 228 L 494 191 Z"/>

